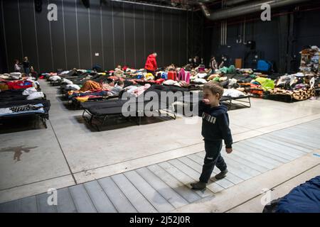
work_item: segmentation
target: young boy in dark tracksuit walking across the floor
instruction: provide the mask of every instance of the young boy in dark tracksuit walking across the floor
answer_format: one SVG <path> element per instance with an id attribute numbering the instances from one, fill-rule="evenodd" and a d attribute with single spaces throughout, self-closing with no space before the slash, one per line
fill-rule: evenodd
<path id="1" fill-rule="evenodd" d="M 208 82 L 203 86 L 203 100 L 199 101 L 198 115 L 203 118 L 201 134 L 204 138 L 206 157 L 199 182 L 191 184 L 196 190 L 206 188 L 215 166 L 220 170 L 215 179 L 223 179 L 228 172 L 220 150 L 224 140 L 226 152 L 232 153 L 233 138 L 229 128 L 228 108 L 219 104 L 222 96 L 223 87 L 218 82 Z"/>

